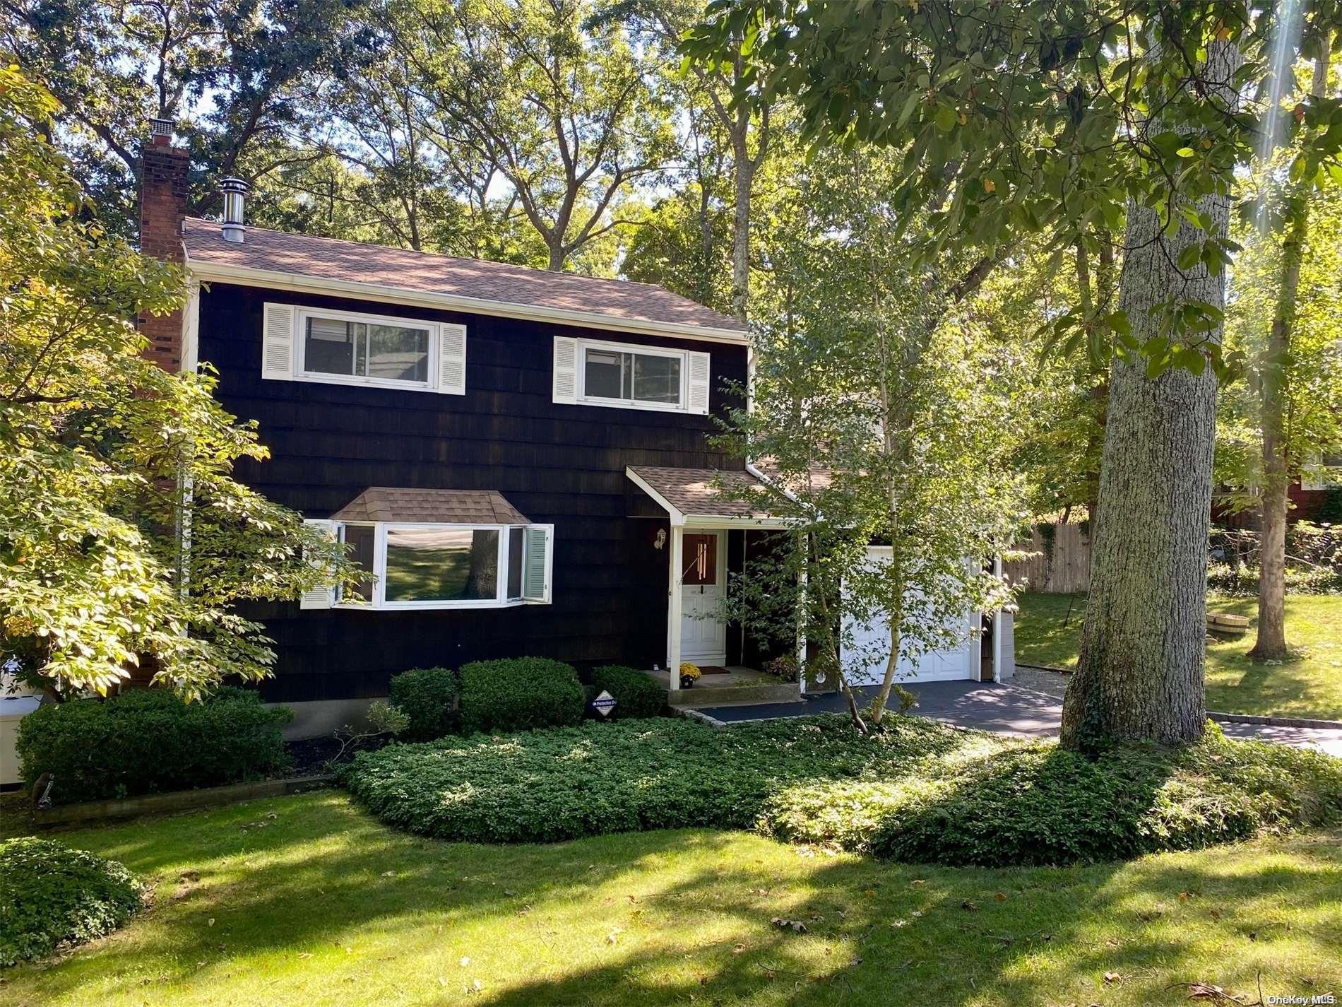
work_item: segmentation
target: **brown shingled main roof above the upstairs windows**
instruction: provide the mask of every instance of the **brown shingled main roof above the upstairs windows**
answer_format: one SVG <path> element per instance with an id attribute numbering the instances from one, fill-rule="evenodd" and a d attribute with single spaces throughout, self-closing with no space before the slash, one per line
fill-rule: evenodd
<path id="1" fill-rule="evenodd" d="M 550 273 L 482 259 L 456 259 L 262 227 L 248 227 L 247 240 L 243 243 L 225 242 L 217 223 L 199 218 L 183 222 L 183 240 L 188 263 L 373 283 L 388 291 L 470 297 L 612 320 L 729 329 L 745 336 L 745 325 L 735 318 L 652 283 Z"/>

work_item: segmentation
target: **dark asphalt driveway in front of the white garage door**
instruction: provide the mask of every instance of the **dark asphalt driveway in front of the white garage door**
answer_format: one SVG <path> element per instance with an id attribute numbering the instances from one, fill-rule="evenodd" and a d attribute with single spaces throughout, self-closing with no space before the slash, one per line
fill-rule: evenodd
<path id="1" fill-rule="evenodd" d="M 918 697 L 915 713 L 943 720 L 961 728 L 994 730 L 1024 737 L 1055 737 L 1063 722 L 1060 700 L 997 682 L 926 682 L 906 685 Z M 864 697 L 875 687 L 858 689 Z M 844 713 L 848 706 L 837 693 L 811 697 L 803 702 L 764 704 L 758 706 L 707 706 L 701 709 L 714 720 L 733 724 L 777 717 L 805 717 L 815 713 Z M 1342 756 L 1342 729 L 1286 728 L 1268 724 L 1229 724 L 1221 729 L 1228 737 L 1278 741 L 1283 745 L 1319 748 Z"/>

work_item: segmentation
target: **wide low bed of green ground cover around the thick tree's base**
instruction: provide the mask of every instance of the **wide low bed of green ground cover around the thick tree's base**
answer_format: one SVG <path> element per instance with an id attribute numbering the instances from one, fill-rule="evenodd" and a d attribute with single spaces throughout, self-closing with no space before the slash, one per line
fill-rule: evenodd
<path id="1" fill-rule="evenodd" d="M 949 865 L 1068 863 L 1193 849 L 1342 820 L 1342 760 L 1227 741 L 1115 748 L 896 717 L 727 730 L 660 718 L 361 753 L 350 792 L 439 839 L 556 842 L 648 828 L 754 828 L 780 839 Z"/>

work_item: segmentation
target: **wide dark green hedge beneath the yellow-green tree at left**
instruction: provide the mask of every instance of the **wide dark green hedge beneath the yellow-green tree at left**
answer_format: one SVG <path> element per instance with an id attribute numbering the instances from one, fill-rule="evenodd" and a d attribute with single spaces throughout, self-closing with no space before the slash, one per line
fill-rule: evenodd
<path id="1" fill-rule="evenodd" d="M 56 804 L 255 780 L 289 764 L 294 718 L 244 689 L 185 704 L 166 689 L 40 706 L 19 722 L 28 787 L 50 772 Z"/>

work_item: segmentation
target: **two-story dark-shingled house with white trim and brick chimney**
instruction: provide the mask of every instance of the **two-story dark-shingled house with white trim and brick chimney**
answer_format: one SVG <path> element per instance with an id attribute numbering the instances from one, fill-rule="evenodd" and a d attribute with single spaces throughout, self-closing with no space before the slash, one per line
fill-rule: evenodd
<path id="1" fill-rule="evenodd" d="M 411 667 L 757 669 L 798 646 L 711 618 L 785 526 L 714 489 L 761 478 L 707 440 L 743 404 L 741 322 L 658 286 L 246 228 L 231 180 L 223 224 L 187 218 L 161 121 L 142 171 L 142 248 L 193 285 L 178 316 L 140 320 L 150 356 L 209 361 L 271 452 L 238 477 L 370 573 L 358 597 L 247 610 L 275 640 L 262 693 L 298 710 L 295 733 Z"/>

